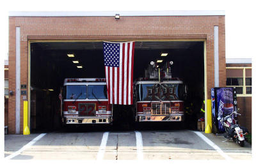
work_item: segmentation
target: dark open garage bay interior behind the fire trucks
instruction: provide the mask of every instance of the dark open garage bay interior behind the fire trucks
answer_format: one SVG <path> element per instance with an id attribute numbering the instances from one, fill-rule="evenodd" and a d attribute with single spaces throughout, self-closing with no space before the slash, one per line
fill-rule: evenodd
<path id="1" fill-rule="evenodd" d="M 61 127 L 59 94 L 64 79 L 105 78 L 102 41 L 36 41 L 30 47 L 30 128 L 32 132 L 55 130 Z M 161 57 L 162 52 L 168 56 Z M 196 113 L 200 111 L 204 100 L 204 41 L 136 41 L 134 54 L 134 80 L 144 77 L 150 61 L 173 61 L 172 77 L 182 78 L 188 85 L 188 101 L 198 110 Z"/>

